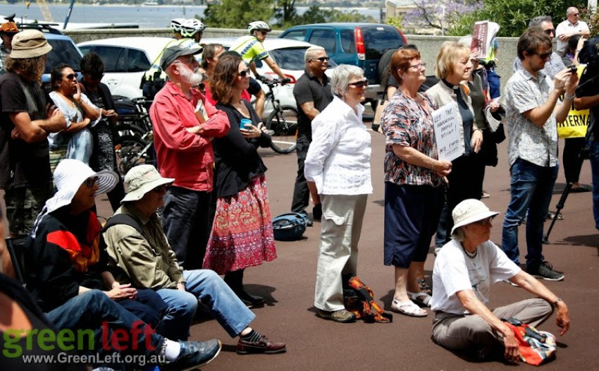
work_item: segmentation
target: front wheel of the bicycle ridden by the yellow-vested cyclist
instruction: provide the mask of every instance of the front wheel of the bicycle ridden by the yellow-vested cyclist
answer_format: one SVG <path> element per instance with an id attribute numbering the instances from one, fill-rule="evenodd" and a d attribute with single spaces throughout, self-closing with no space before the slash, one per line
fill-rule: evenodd
<path id="1" fill-rule="evenodd" d="M 264 123 L 273 130 L 271 148 L 277 153 L 291 153 L 297 146 L 297 110 L 291 106 L 282 106 L 268 115 Z"/>

